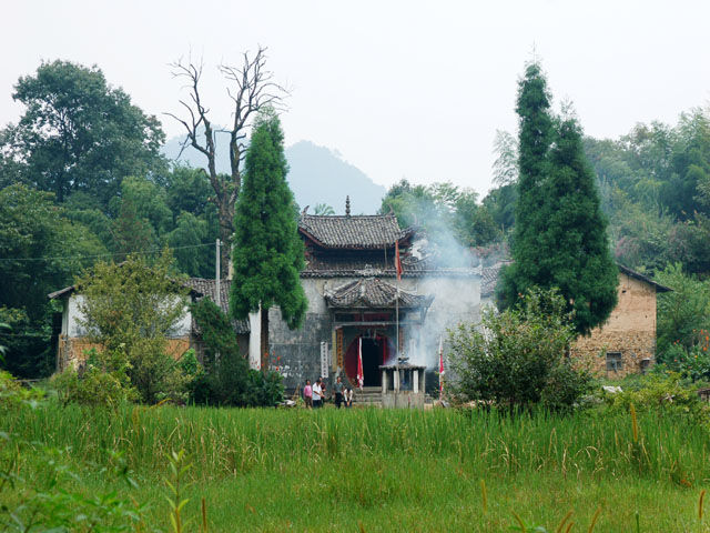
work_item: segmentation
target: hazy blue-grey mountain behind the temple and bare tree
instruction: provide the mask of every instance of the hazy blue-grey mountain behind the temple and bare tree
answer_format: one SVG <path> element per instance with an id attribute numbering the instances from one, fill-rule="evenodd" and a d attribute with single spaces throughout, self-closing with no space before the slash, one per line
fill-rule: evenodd
<path id="1" fill-rule="evenodd" d="M 178 159 L 182 138 L 172 138 L 163 147 L 163 154 L 169 159 Z M 291 168 L 288 184 L 296 197 L 301 209 L 317 203 L 331 205 L 336 214 L 345 213 L 345 197 L 351 197 L 353 214 L 374 214 L 382 204 L 387 192 L 383 185 L 371 180 L 367 174 L 341 155 L 325 147 L 310 141 L 300 141 L 285 150 Z M 191 167 L 202 167 L 204 155 L 193 148 L 187 148 L 180 161 Z M 217 172 L 230 172 L 227 155 L 227 138 L 217 138 Z"/>

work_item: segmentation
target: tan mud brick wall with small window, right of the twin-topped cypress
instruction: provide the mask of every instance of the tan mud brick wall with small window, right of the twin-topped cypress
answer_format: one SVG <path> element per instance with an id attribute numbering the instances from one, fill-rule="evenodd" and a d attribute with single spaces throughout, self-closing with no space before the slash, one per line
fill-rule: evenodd
<path id="1" fill-rule="evenodd" d="M 618 304 L 609 320 L 571 350 L 577 361 L 597 375 L 622 378 L 650 368 L 656 361 L 656 288 L 619 273 Z M 607 353 L 621 354 L 621 368 L 607 370 Z M 643 362 L 647 360 L 647 362 Z"/>

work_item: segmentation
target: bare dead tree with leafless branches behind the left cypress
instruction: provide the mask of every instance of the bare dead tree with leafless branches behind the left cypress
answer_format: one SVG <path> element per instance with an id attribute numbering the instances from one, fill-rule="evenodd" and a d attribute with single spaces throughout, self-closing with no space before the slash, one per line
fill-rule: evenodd
<path id="1" fill-rule="evenodd" d="M 266 48 L 258 47 L 253 58 L 245 52 L 240 67 L 230 64 L 219 66 L 219 70 L 227 81 L 226 92 L 234 108 L 232 124 L 229 129 L 214 128 L 207 117 L 210 109 L 205 107 L 200 97 L 200 81 L 203 63 L 193 62 L 191 59 L 182 59 L 171 63 L 173 78 L 185 81 L 184 89 L 189 98 L 180 100 L 184 108 L 182 117 L 174 113 L 165 113 L 180 122 L 186 132 L 182 142 L 182 151 L 192 147 L 206 158 L 206 169 L 203 169 L 214 190 L 211 201 L 216 205 L 220 221 L 220 239 L 224 243 L 222 248 L 222 275 L 226 274 L 231 250 L 232 234 L 234 233 L 234 204 L 242 185 L 242 162 L 246 153 L 246 137 L 252 124 L 252 119 L 260 110 L 283 108 L 283 100 L 288 91 L 274 81 L 274 74 L 266 69 Z M 231 173 L 220 174 L 216 170 L 216 134 L 230 135 L 230 168 Z"/>

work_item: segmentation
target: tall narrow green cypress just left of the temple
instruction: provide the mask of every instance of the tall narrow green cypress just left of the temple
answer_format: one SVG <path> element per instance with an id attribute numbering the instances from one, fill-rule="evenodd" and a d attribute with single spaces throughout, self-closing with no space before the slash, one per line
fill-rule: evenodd
<path id="1" fill-rule="evenodd" d="M 268 331 L 268 309 L 295 329 L 301 325 L 307 299 L 298 273 L 305 265 L 298 237 L 298 210 L 286 182 L 288 164 L 278 117 L 264 112 L 252 133 L 245 177 L 234 217 L 234 281 L 232 315 L 244 319 L 262 308 L 262 330 Z M 262 333 L 262 353 L 268 350 Z"/>

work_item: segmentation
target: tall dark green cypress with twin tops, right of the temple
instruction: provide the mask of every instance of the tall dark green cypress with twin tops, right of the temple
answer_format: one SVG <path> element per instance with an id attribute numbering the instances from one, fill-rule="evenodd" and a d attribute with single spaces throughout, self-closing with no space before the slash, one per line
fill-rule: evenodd
<path id="1" fill-rule="evenodd" d="M 617 303 L 618 271 L 609 251 L 594 171 L 574 118 L 552 119 L 539 64 L 527 68 L 518 93 L 520 181 L 513 242 L 499 303 L 532 285 L 557 286 L 578 333 L 607 320 Z"/>

